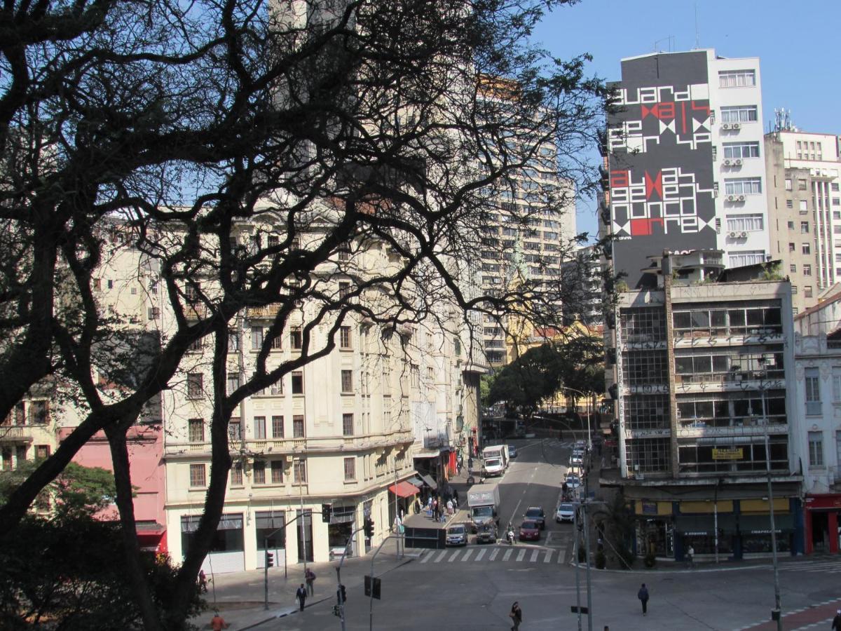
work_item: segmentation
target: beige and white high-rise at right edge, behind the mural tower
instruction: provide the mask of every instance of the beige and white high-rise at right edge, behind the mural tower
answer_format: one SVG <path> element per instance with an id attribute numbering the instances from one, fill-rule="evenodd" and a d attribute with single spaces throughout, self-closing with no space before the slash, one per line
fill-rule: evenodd
<path id="1" fill-rule="evenodd" d="M 838 136 L 784 125 L 764 139 L 771 255 L 802 313 L 841 280 L 841 156 Z"/>

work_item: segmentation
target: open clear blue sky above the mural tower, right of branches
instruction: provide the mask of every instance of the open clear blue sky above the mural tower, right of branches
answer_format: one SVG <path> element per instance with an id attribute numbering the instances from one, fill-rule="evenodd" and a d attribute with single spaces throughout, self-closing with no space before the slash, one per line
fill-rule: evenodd
<path id="1" fill-rule="evenodd" d="M 590 53 L 590 74 L 616 81 L 621 58 L 655 41 L 695 48 L 696 8 L 699 47 L 759 57 L 766 129 L 785 108 L 801 130 L 841 134 L 841 0 L 583 0 L 548 14 L 533 39 L 553 56 Z M 579 203 L 578 230 L 595 234 L 593 200 Z"/>

